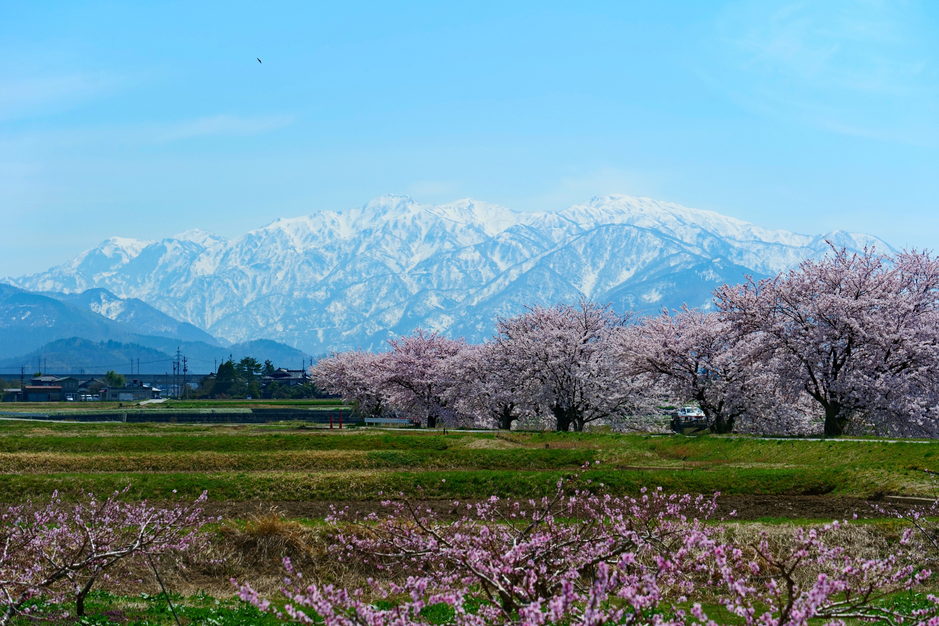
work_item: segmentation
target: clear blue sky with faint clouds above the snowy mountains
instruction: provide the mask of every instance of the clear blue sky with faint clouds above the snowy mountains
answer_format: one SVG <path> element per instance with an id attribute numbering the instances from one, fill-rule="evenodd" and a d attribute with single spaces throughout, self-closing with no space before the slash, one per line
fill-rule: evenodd
<path id="1" fill-rule="evenodd" d="M 939 3 L 0 4 L 0 276 L 385 192 L 934 248 L 937 165 Z"/>

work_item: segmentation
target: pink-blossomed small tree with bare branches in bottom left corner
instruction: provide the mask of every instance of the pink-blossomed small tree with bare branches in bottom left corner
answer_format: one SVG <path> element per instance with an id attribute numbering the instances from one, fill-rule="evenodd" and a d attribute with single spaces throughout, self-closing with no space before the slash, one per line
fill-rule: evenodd
<path id="1" fill-rule="evenodd" d="M 215 521 L 202 515 L 205 492 L 192 505 L 173 509 L 121 502 L 120 495 L 100 501 L 89 494 L 86 503 L 69 507 L 54 494 L 44 508 L 10 507 L 0 515 L 0 626 L 28 614 L 27 604 L 43 594 L 57 603 L 73 596 L 84 615 L 92 585 L 119 574 L 122 561 L 205 545 L 199 529 Z"/>

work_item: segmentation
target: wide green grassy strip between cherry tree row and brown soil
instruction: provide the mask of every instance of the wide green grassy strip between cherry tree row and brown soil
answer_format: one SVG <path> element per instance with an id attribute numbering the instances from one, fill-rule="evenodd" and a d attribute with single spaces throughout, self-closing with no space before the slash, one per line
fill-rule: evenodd
<path id="1" fill-rule="evenodd" d="M 0 421 L 0 500 L 58 490 L 215 500 L 542 496 L 578 466 L 612 493 L 927 496 L 939 443 Z"/>

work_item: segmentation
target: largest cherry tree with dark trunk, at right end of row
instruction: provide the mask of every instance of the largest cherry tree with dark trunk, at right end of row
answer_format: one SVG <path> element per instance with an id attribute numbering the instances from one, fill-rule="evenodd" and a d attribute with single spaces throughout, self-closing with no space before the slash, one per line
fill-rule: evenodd
<path id="1" fill-rule="evenodd" d="M 936 419 L 939 261 L 836 250 L 774 278 L 723 285 L 715 302 L 757 337 L 780 380 L 824 408 L 825 435 L 855 417 L 931 431 Z"/>

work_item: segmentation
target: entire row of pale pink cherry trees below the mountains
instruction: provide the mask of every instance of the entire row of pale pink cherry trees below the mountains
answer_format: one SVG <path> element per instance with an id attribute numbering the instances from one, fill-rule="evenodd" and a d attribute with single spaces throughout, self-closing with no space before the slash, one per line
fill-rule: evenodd
<path id="1" fill-rule="evenodd" d="M 510 428 L 616 426 L 694 402 L 713 430 L 934 434 L 939 260 L 832 250 L 776 277 L 725 284 L 715 309 L 620 315 L 580 298 L 499 318 L 484 344 L 422 329 L 382 353 L 316 363 L 317 384 L 367 415 Z"/>

